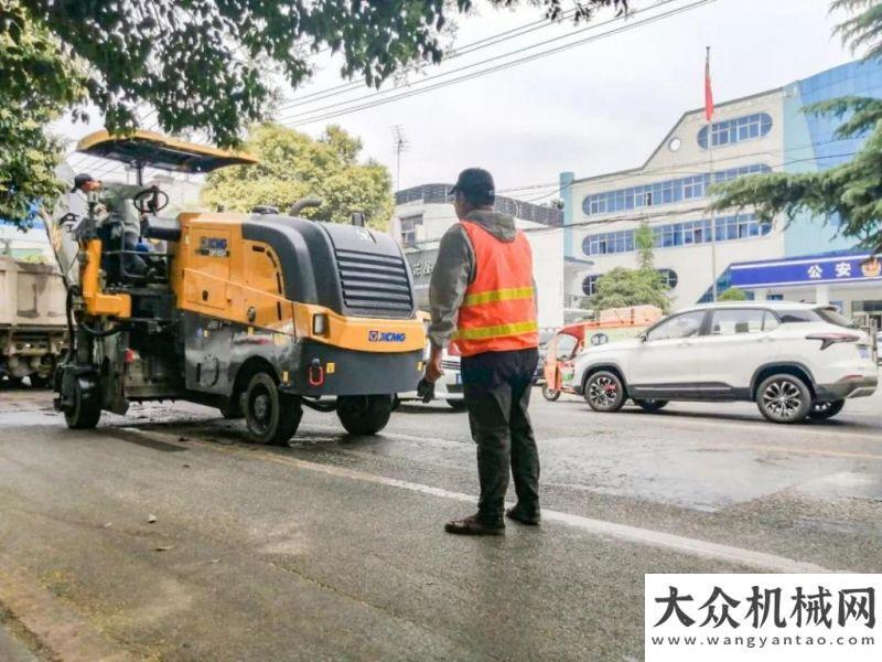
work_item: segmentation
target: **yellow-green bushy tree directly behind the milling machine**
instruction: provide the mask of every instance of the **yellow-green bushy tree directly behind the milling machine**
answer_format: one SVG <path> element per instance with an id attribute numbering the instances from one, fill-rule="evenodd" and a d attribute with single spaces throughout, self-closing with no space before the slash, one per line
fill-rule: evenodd
<path id="1" fill-rule="evenodd" d="M 230 211 L 247 212 L 271 204 L 284 213 L 308 195 L 323 204 L 302 215 L 318 221 L 348 223 L 363 212 L 375 227 L 385 227 L 392 211 L 391 179 L 375 161 L 362 163 L 362 141 L 337 126 L 314 140 L 277 124 L 256 127 L 245 149 L 260 160 L 256 166 L 217 170 L 207 177 L 203 201 Z"/>

